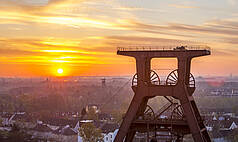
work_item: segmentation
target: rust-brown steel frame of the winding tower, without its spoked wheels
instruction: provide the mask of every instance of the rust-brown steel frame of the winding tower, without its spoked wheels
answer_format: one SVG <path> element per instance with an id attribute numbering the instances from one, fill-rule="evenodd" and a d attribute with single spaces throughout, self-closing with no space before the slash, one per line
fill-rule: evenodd
<path id="1" fill-rule="evenodd" d="M 211 50 L 207 46 L 178 47 L 118 47 L 118 55 L 136 59 L 137 84 L 132 86 L 134 97 L 123 119 L 115 142 L 132 142 L 136 129 L 133 122 L 146 109 L 147 102 L 155 96 L 171 96 L 181 103 L 189 133 L 195 142 L 211 142 L 205 125 L 193 98 L 195 86 L 190 86 L 191 60 L 195 57 L 207 56 Z M 177 58 L 176 84 L 153 84 L 151 82 L 151 60 L 153 58 Z M 181 128 L 182 129 L 182 128 Z"/>

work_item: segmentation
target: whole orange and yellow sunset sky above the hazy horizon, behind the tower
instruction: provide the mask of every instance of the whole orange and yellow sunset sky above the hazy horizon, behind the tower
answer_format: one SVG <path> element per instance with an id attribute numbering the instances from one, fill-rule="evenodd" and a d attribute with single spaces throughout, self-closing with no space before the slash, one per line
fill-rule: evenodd
<path id="1" fill-rule="evenodd" d="M 130 75 L 117 46 L 206 44 L 195 75 L 238 75 L 236 0 L 0 0 L 0 76 Z M 167 62 L 156 64 L 168 68 Z"/>

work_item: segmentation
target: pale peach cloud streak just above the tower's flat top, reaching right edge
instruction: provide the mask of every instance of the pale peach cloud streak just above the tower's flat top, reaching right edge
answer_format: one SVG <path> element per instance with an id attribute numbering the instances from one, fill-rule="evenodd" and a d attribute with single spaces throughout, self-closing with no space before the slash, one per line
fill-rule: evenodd
<path id="1" fill-rule="evenodd" d="M 222 41 L 227 38 L 235 39 L 238 35 L 238 20 L 210 20 L 202 25 L 169 23 L 167 25 L 145 24 L 138 21 L 129 21 L 127 28 L 135 31 L 186 37 L 187 39 L 203 39 L 213 37 L 213 40 Z M 207 41 L 209 41 L 208 38 Z"/>

